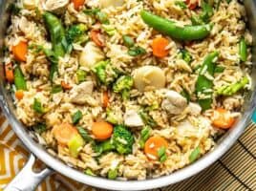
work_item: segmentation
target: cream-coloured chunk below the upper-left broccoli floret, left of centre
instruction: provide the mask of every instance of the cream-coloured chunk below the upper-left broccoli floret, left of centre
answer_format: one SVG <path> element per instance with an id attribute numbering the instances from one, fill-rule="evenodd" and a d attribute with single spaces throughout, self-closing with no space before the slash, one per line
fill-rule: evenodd
<path id="1" fill-rule="evenodd" d="M 88 42 L 80 54 L 79 64 L 91 69 L 97 62 L 104 59 L 104 54 L 94 42 Z"/>

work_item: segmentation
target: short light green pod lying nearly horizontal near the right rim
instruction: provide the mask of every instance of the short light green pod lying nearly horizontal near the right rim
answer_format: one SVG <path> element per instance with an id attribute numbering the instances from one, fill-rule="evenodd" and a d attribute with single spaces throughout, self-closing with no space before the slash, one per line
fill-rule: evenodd
<path id="1" fill-rule="evenodd" d="M 228 86 L 223 86 L 217 90 L 217 95 L 219 96 L 232 96 L 236 94 L 238 91 L 245 88 L 245 85 L 249 83 L 249 79 L 247 76 L 243 77 L 241 80 L 237 81 Z"/>

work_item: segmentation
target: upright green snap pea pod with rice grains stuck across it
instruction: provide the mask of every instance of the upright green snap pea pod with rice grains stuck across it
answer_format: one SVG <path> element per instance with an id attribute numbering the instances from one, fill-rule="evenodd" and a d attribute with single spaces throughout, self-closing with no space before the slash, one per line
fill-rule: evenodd
<path id="1" fill-rule="evenodd" d="M 217 61 L 218 55 L 218 52 L 213 52 L 209 53 L 204 58 L 203 65 L 196 82 L 196 94 L 203 111 L 211 107 L 213 81 L 210 77 L 214 74 L 215 62 Z"/>

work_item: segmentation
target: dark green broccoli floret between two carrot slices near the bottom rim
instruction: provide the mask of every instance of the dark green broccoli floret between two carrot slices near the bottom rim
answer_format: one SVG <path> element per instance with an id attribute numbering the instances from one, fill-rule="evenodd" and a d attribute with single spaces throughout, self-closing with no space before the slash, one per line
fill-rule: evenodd
<path id="1" fill-rule="evenodd" d="M 119 154 L 132 153 L 135 139 L 132 133 L 128 131 L 123 125 L 115 126 L 112 141 Z"/>

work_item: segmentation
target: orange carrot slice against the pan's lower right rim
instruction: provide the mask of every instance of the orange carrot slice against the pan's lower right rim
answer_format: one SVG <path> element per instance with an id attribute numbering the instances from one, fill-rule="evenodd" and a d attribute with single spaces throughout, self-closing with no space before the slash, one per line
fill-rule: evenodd
<path id="1" fill-rule="evenodd" d="M 232 127 L 232 125 L 235 122 L 235 118 L 231 117 L 230 112 L 223 109 L 223 108 L 217 108 L 212 115 L 212 124 L 215 127 L 221 128 L 221 129 L 228 129 Z"/>

